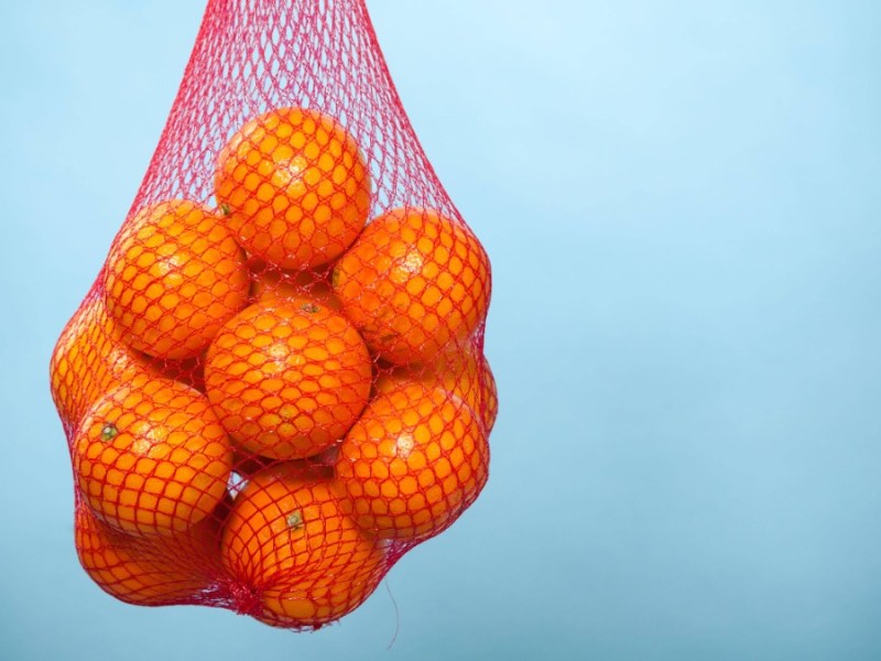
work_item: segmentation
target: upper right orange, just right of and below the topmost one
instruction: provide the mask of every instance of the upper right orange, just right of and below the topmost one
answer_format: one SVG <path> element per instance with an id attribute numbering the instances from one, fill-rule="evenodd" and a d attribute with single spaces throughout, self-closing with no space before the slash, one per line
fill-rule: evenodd
<path id="1" fill-rule="evenodd" d="M 463 224 L 396 208 L 374 218 L 336 263 L 342 310 L 368 346 L 395 365 L 464 346 L 486 318 L 489 259 Z"/>

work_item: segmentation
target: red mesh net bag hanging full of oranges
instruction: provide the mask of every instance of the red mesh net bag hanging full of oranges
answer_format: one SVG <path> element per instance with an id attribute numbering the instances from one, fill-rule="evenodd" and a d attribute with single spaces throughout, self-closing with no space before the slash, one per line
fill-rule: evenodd
<path id="1" fill-rule="evenodd" d="M 106 592 L 315 628 L 489 470 L 483 248 L 362 0 L 210 0 L 51 361 Z"/>

